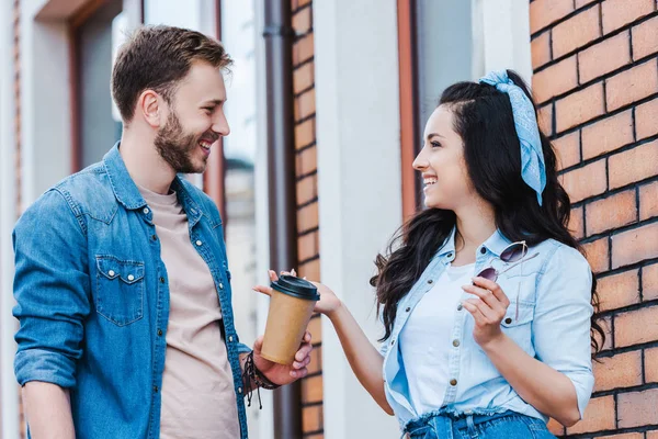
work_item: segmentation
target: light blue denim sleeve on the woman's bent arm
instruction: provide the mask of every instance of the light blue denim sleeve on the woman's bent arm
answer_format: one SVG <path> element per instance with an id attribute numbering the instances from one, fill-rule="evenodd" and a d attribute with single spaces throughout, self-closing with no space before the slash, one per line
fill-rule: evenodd
<path id="1" fill-rule="evenodd" d="M 571 380 L 580 418 L 594 386 L 590 318 L 592 272 L 587 259 L 560 245 L 537 288 L 533 342 L 540 361 Z"/>

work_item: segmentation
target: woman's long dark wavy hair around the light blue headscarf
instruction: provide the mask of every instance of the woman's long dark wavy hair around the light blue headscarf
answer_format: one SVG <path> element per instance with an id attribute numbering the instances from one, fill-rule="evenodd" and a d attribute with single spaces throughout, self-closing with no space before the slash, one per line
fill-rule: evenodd
<path id="1" fill-rule="evenodd" d="M 532 100 L 521 77 L 508 70 L 509 78 Z M 534 101 L 533 101 L 534 102 Z M 489 85 L 457 82 L 443 92 L 439 105 L 454 115 L 454 130 L 464 143 L 468 176 L 477 193 L 495 210 L 496 226 L 510 240 L 536 245 L 553 238 L 581 250 L 567 228 L 570 202 L 557 179 L 557 159 L 548 138 L 540 133 L 546 165 L 543 205 L 536 193 L 521 179 L 521 151 L 508 94 Z M 535 108 L 536 116 L 536 108 Z M 392 239 L 386 255 L 377 255 L 377 309 L 382 313 L 385 335 L 390 337 L 397 305 L 420 278 L 430 259 L 445 243 L 455 226 L 454 212 L 428 209 L 417 213 Z M 592 277 L 591 346 L 598 352 L 605 334 L 598 324 L 599 297 Z M 597 335 L 601 338 L 599 341 Z"/>

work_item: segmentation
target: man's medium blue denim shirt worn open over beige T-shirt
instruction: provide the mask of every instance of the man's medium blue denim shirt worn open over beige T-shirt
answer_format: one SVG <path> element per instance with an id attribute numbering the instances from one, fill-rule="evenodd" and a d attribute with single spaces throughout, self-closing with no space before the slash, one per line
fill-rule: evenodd
<path id="1" fill-rule="evenodd" d="M 186 180 L 177 177 L 172 188 L 215 281 L 247 438 L 238 357 L 250 349 L 234 327 L 222 219 Z M 19 383 L 69 389 L 78 438 L 158 438 L 169 282 L 152 212 L 118 144 L 43 194 L 18 222 L 13 244 Z"/>

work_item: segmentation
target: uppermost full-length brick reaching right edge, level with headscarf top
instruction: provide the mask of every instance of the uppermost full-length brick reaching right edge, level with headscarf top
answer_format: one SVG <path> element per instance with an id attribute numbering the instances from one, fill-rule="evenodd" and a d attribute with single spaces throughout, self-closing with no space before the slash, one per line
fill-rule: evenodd
<path id="1" fill-rule="evenodd" d="M 608 111 L 639 101 L 658 92 L 658 66 L 656 59 L 633 67 L 605 80 Z"/>

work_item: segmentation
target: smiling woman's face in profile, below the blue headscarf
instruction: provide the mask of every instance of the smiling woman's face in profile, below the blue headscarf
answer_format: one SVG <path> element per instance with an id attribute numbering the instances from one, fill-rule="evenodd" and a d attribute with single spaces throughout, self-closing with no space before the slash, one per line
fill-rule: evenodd
<path id="1" fill-rule="evenodd" d="M 477 196 L 466 171 L 464 143 L 453 128 L 449 108 L 436 108 L 428 120 L 413 168 L 422 172 L 427 207 L 456 211 Z"/>

